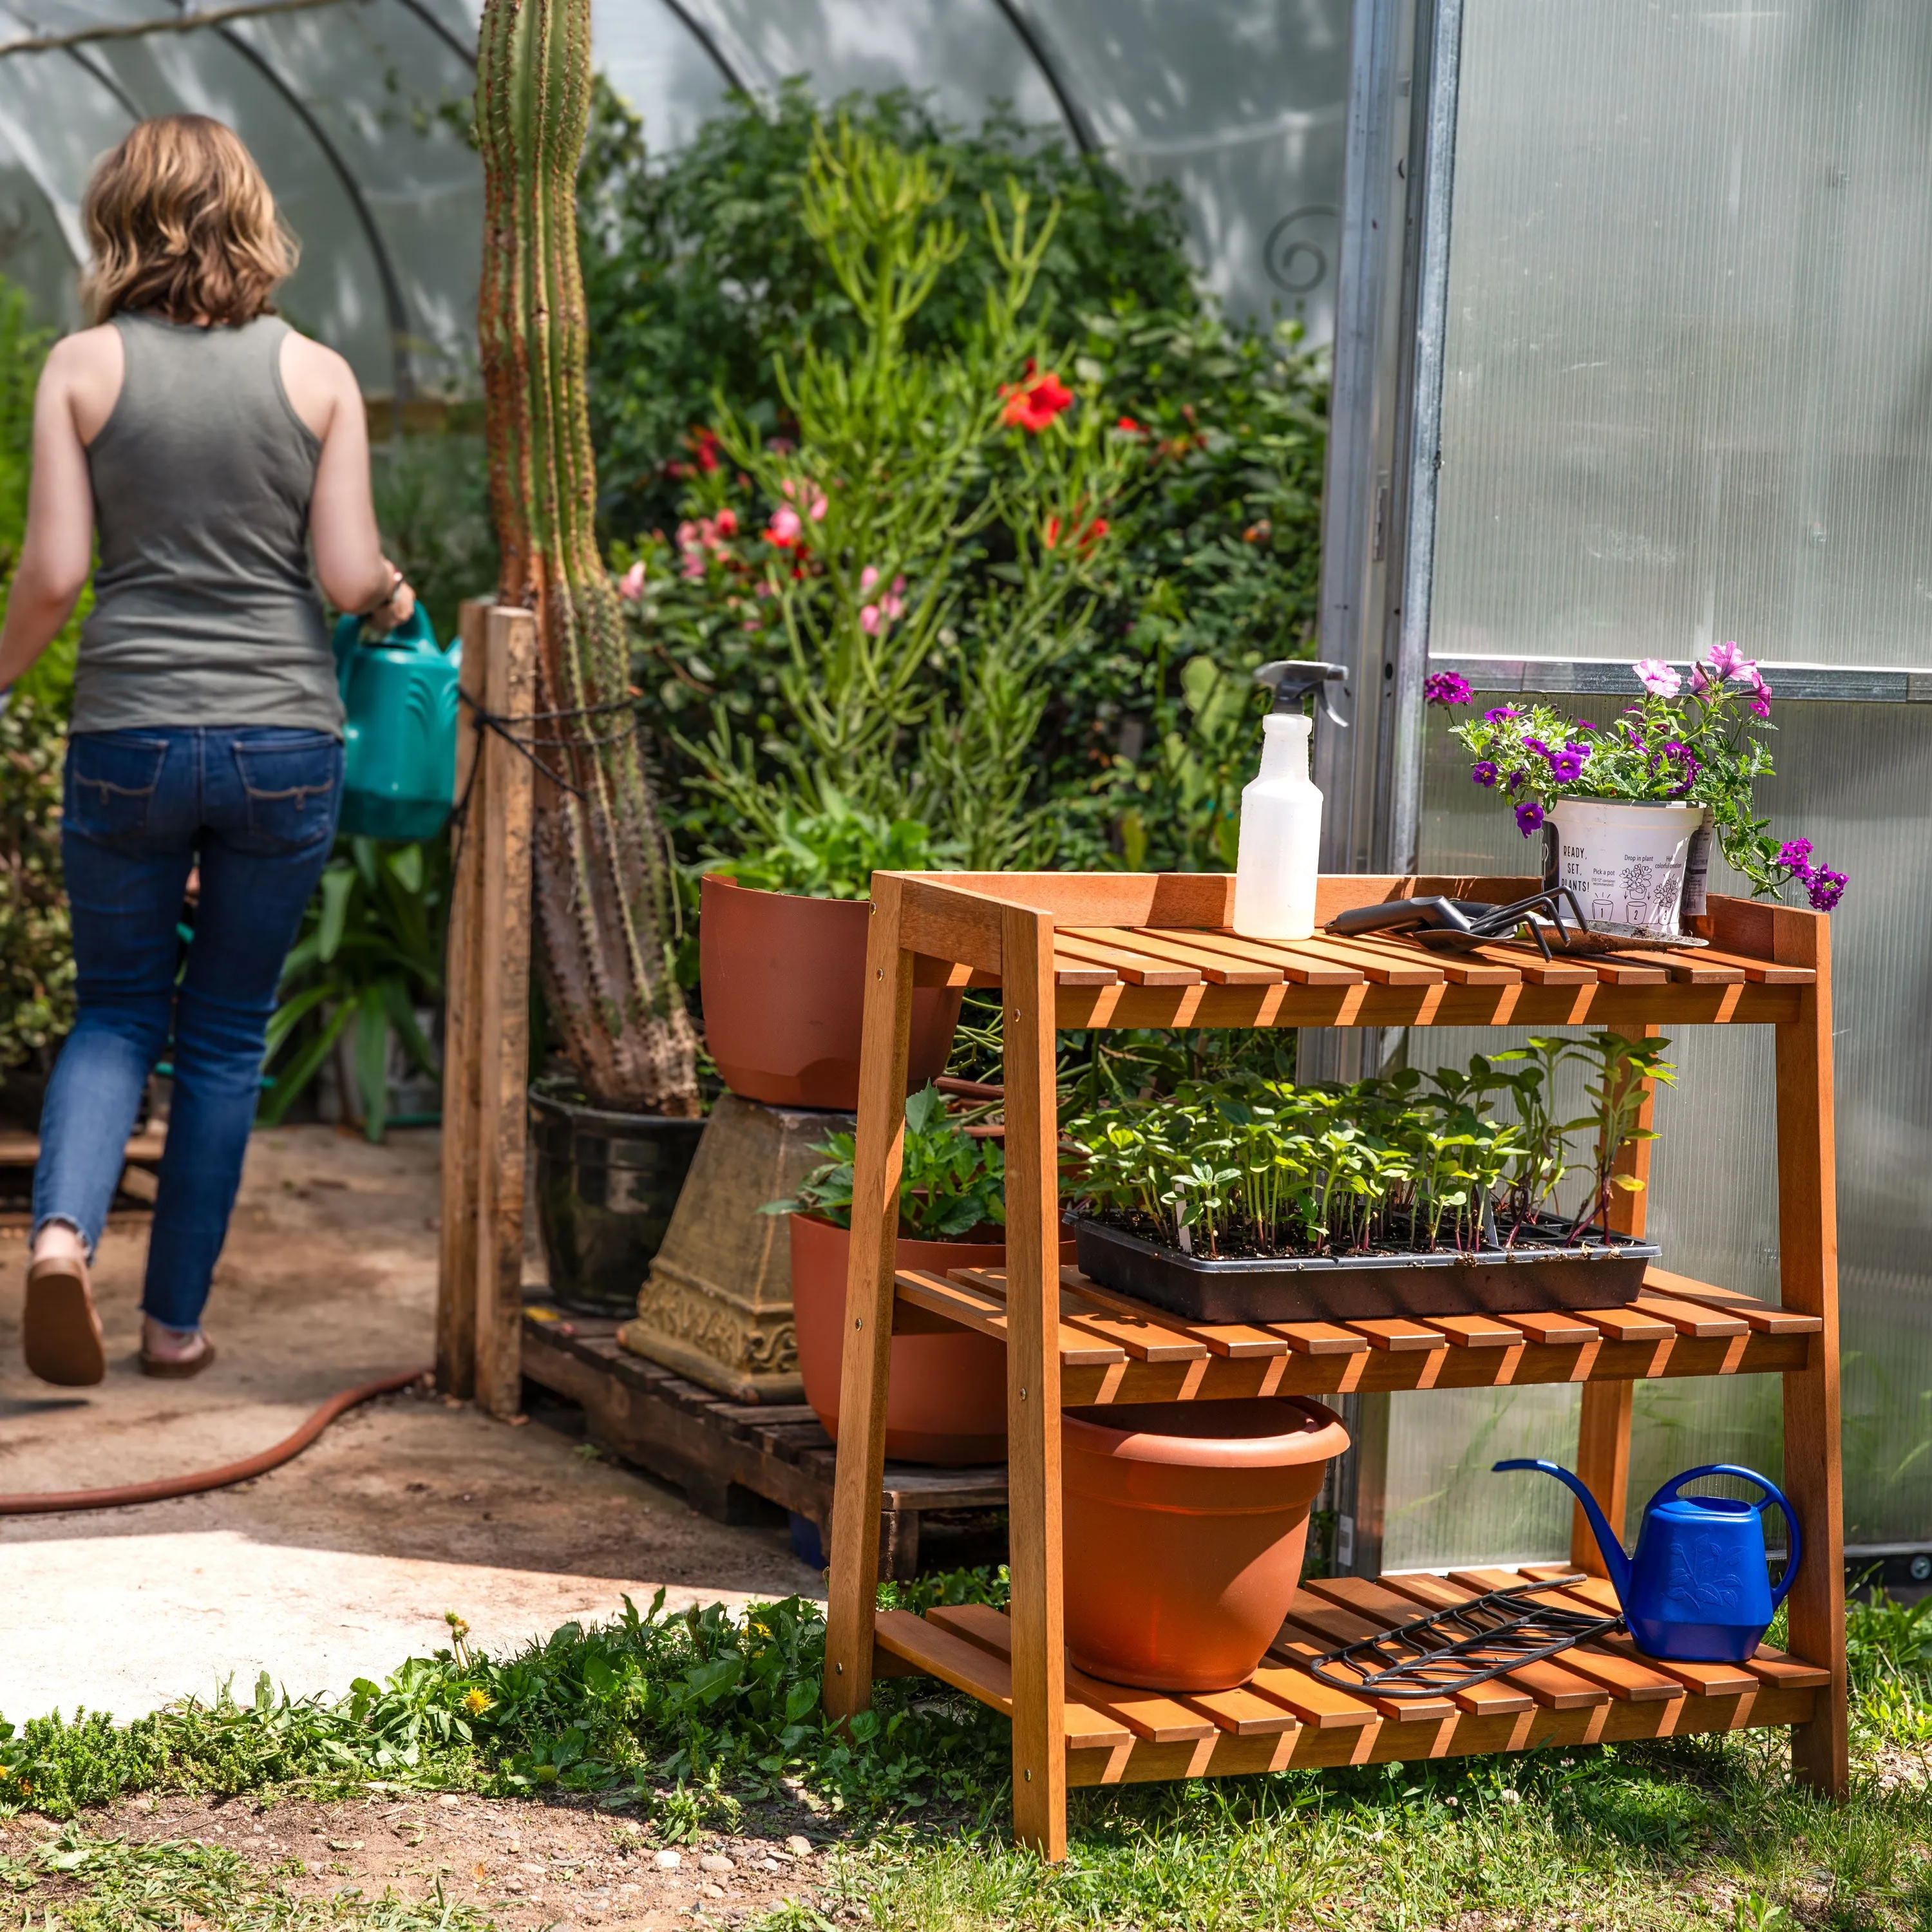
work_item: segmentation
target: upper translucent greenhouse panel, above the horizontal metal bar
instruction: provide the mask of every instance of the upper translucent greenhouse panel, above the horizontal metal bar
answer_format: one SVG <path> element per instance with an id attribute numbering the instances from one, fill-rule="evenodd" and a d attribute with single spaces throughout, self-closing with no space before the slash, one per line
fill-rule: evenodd
<path id="1" fill-rule="evenodd" d="M 1932 8 L 1466 0 L 1432 647 L 1932 667 Z"/>

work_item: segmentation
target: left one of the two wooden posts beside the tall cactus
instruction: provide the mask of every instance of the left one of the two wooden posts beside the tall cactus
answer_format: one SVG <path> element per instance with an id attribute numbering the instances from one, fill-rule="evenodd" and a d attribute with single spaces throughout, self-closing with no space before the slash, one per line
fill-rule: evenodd
<path id="1" fill-rule="evenodd" d="M 475 808 L 483 773 L 475 769 L 475 703 L 483 703 L 487 668 L 485 626 L 491 601 L 471 597 L 458 624 L 464 661 L 460 688 L 468 703 L 456 711 L 456 802 Z M 477 842 L 452 825 L 456 866 L 450 883 L 450 933 L 442 974 L 442 1217 L 437 1260 L 437 1387 L 444 1395 L 475 1393 L 477 1347 L 477 949 L 475 906 L 481 883 Z"/>

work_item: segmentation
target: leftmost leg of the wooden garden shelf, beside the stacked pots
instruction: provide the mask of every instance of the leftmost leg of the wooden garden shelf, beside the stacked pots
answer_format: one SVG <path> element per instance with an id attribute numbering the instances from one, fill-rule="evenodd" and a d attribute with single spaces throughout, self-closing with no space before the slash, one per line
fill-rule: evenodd
<path id="1" fill-rule="evenodd" d="M 825 1611 L 825 1716 L 871 1704 L 871 1619 L 879 1602 L 879 1495 L 885 1486 L 885 1397 L 893 1368 L 893 1260 L 898 1165 L 906 1138 L 906 1049 L 912 954 L 898 943 L 898 881 L 873 879 L 866 941 L 866 1032 L 852 1163 L 852 1260 L 838 1368 L 838 1464 Z"/>

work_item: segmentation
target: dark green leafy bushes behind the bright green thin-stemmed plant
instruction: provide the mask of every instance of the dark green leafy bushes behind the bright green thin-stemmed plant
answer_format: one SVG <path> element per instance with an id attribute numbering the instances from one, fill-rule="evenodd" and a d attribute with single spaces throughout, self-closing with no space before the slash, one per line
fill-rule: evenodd
<path id="1" fill-rule="evenodd" d="M 1109 512 L 1115 537 L 1092 572 L 1092 609 L 1065 618 L 1066 649 L 1020 753 L 1022 810 L 1043 842 L 1036 858 L 1231 866 L 1238 792 L 1258 755 L 1248 672 L 1304 653 L 1314 634 L 1325 359 L 1289 328 L 1225 325 L 1194 288 L 1173 201 L 1105 162 L 1068 156 L 1005 116 L 968 133 L 906 95 L 842 108 L 862 131 L 925 147 L 951 170 L 937 213 L 964 249 L 912 319 L 908 348 L 956 342 L 978 317 L 999 270 L 980 195 L 1001 199 L 1010 176 L 1036 211 L 1059 211 L 1028 307 L 1059 344 L 1047 365 L 1138 425 L 1142 473 Z M 728 854 L 742 819 L 717 811 L 686 750 L 715 707 L 746 744 L 782 746 L 792 730 L 782 659 L 769 626 L 748 622 L 757 605 L 744 582 L 680 576 L 667 533 L 713 514 L 721 493 L 748 510 L 744 485 L 728 487 L 721 468 L 717 396 L 765 435 L 790 437 L 777 359 L 796 363 L 808 340 L 837 350 L 852 338 L 850 303 L 800 222 L 810 143 L 810 100 L 788 89 L 769 114 L 740 102 L 692 149 L 647 168 L 636 126 L 605 99 L 582 176 L 601 514 L 622 562 L 645 564 L 638 682 L 657 699 L 667 810 L 686 854 Z M 746 531 L 759 522 L 746 518 Z M 1001 568 L 997 533 L 962 556 L 962 609 Z M 943 643 L 935 686 L 958 676 L 960 653 Z M 782 761 L 759 757 L 777 782 Z M 827 779 L 856 790 L 852 773 Z M 922 815 L 941 842 L 960 833 L 949 811 Z"/>

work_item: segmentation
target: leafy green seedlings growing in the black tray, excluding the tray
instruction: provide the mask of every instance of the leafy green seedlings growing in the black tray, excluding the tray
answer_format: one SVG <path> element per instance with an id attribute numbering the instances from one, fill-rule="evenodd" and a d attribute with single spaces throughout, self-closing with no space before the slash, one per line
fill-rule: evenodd
<path id="1" fill-rule="evenodd" d="M 1654 1138 L 1638 1115 L 1646 1082 L 1675 1078 L 1667 1045 L 1538 1037 L 1428 1080 L 1408 1068 L 1352 1086 L 1182 1082 L 1173 1097 L 1072 1121 L 1082 1167 L 1068 1192 L 1126 1233 L 1213 1260 L 1575 1244 L 1642 1184 L 1619 1159 Z M 1555 1078 L 1578 1061 L 1594 1074 L 1590 1111 L 1559 1121 Z M 1517 1119 L 1499 1115 L 1505 1099 Z M 1580 1204 L 1555 1215 L 1578 1169 Z"/>

